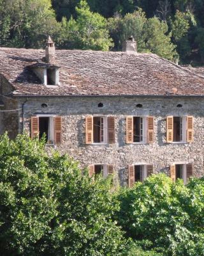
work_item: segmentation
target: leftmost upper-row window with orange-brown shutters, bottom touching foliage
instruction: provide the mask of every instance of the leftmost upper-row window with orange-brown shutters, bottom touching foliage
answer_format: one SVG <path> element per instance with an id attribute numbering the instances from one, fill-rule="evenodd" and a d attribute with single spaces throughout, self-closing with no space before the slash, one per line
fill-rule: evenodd
<path id="1" fill-rule="evenodd" d="M 32 116 L 31 138 L 45 138 L 48 144 L 61 143 L 61 116 Z"/>

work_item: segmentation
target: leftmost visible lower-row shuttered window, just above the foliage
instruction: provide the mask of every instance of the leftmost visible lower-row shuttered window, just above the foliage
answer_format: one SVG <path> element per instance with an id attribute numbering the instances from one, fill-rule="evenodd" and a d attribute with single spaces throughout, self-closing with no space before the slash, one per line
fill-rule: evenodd
<path id="1" fill-rule="evenodd" d="M 114 166 L 113 164 L 92 164 L 89 165 L 89 177 L 94 177 L 95 175 L 103 175 L 107 177 L 108 175 L 113 175 Z"/>

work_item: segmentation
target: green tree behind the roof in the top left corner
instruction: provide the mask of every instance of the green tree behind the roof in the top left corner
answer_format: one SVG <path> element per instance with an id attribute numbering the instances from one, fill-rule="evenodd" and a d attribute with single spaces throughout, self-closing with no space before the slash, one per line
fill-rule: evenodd
<path id="1" fill-rule="evenodd" d="M 34 48 L 44 46 L 48 33 L 55 38 L 60 28 L 50 0 L 1 0 L 0 26 L 6 36 L 2 45 Z"/>

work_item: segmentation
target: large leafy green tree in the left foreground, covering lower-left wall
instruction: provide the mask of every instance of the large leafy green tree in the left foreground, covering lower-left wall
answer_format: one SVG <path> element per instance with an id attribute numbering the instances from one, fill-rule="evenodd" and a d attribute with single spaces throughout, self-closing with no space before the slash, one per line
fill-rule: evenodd
<path id="1" fill-rule="evenodd" d="M 82 175 L 44 141 L 0 137 L 1 255 L 120 255 L 123 233 L 112 180 Z"/>

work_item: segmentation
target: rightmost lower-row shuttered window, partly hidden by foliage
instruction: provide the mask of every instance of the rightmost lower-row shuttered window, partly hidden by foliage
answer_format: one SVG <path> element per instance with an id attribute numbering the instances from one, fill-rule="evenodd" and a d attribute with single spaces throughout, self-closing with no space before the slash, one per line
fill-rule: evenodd
<path id="1" fill-rule="evenodd" d="M 193 177 L 193 164 L 172 164 L 170 166 L 170 176 L 173 181 L 182 179 L 184 184 L 187 184 L 189 178 Z"/>

